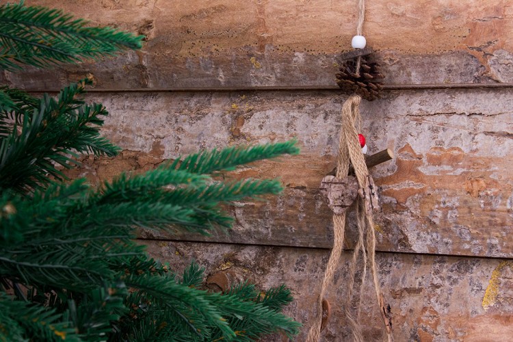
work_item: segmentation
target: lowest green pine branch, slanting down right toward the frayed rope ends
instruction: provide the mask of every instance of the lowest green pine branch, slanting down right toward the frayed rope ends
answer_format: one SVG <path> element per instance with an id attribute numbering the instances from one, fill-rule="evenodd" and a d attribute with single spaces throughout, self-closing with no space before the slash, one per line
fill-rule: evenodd
<path id="1" fill-rule="evenodd" d="M 198 332 L 201 335 L 198 341 L 219 338 L 226 341 L 253 341 L 256 337 L 278 330 L 292 337 L 298 333 L 300 326 L 282 313 L 235 293 L 209 293 L 184 287 L 165 277 L 131 275 L 124 278 L 124 281 L 144 293 L 152 303 L 178 311 L 185 320 L 186 329 L 191 330 L 189 334 Z M 252 295 L 255 294 L 252 289 L 250 291 Z M 196 324 L 205 324 L 211 331 L 204 331 Z M 241 329 L 234 329 L 237 326 Z"/>

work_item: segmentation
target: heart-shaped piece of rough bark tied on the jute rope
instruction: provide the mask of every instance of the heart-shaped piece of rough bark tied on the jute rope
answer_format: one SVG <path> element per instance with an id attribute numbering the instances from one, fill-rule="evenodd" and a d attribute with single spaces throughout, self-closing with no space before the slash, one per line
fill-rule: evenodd
<path id="1" fill-rule="evenodd" d="M 338 179 L 328 175 L 322 179 L 319 190 L 328 199 L 328 207 L 337 215 L 341 215 L 358 196 L 358 181 L 354 176 Z"/>

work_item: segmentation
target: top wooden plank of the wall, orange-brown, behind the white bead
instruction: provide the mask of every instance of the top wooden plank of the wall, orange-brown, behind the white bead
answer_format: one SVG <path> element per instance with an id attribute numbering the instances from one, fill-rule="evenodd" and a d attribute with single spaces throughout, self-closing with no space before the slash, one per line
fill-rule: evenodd
<path id="1" fill-rule="evenodd" d="M 356 0 L 26 2 L 148 36 L 142 51 L 101 64 L 7 73 L 29 89 L 88 73 L 98 88 L 335 86 L 356 32 Z M 505 0 L 376 0 L 364 34 L 385 83 L 513 82 L 512 16 Z"/>

